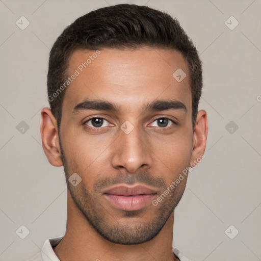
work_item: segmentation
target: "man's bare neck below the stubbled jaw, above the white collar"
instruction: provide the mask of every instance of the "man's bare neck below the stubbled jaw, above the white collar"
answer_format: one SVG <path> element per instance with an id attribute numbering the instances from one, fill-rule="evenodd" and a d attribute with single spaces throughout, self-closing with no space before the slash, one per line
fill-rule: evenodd
<path id="1" fill-rule="evenodd" d="M 152 240 L 137 245 L 115 244 L 97 233 L 75 206 L 67 190 L 66 232 L 54 251 L 61 261 L 178 261 L 172 253 L 173 222 L 174 212 Z"/>

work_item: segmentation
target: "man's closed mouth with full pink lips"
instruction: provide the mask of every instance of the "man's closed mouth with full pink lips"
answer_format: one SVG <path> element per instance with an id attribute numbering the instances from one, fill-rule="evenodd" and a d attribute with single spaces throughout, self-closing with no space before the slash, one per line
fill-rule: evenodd
<path id="1" fill-rule="evenodd" d="M 151 204 L 156 197 L 156 191 L 142 185 L 120 185 L 106 190 L 103 196 L 120 210 L 135 211 Z"/>

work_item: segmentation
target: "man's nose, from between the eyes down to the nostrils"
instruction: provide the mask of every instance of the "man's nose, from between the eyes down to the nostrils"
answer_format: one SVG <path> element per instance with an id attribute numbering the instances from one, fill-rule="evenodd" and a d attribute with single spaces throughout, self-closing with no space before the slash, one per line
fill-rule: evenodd
<path id="1" fill-rule="evenodd" d="M 119 130 L 112 157 L 112 166 L 115 169 L 135 173 L 138 169 L 145 171 L 151 167 L 150 146 L 148 139 L 141 132 L 138 127 L 129 134 Z"/>

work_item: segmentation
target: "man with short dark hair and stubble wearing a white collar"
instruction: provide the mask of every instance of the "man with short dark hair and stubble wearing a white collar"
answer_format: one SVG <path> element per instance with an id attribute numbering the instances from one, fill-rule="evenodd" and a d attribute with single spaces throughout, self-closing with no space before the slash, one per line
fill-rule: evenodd
<path id="1" fill-rule="evenodd" d="M 64 166 L 67 224 L 32 260 L 188 260 L 172 248 L 174 209 L 208 126 L 178 21 L 146 6 L 92 11 L 56 40 L 47 85 L 42 145 Z"/>

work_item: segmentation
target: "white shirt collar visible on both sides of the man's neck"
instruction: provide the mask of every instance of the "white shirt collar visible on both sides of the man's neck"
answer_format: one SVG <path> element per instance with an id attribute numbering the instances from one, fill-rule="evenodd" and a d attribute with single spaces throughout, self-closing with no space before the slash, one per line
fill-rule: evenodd
<path id="1" fill-rule="evenodd" d="M 60 261 L 60 259 L 55 254 L 53 247 L 56 247 L 60 241 L 62 240 L 63 236 L 46 239 L 41 249 L 41 252 L 37 253 L 32 258 L 28 259 L 27 261 Z M 173 254 L 179 258 L 180 261 L 190 261 L 187 257 L 185 257 L 177 248 L 172 248 Z"/>

